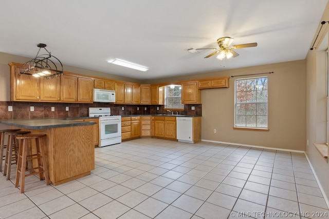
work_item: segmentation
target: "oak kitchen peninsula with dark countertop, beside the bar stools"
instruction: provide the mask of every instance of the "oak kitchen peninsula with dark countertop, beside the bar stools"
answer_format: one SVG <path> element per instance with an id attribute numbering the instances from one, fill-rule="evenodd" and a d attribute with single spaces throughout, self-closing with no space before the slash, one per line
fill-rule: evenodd
<path id="1" fill-rule="evenodd" d="M 95 169 L 95 122 L 36 118 L 0 120 L 0 123 L 46 134 L 44 145 L 52 185 L 75 180 Z"/>

